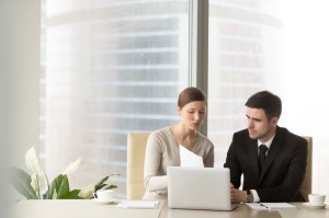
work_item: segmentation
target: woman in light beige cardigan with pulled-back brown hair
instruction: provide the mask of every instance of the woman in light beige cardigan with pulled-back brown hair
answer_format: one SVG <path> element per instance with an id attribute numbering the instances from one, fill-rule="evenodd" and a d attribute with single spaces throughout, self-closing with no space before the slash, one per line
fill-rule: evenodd
<path id="1" fill-rule="evenodd" d="M 167 167 L 180 165 L 179 146 L 203 158 L 206 168 L 214 167 L 214 145 L 196 130 L 206 114 L 206 96 L 197 88 L 184 89 L 178 99 L 178 124 L 150 134 L 145 154 L 143 199 L 167 198 Z"/>

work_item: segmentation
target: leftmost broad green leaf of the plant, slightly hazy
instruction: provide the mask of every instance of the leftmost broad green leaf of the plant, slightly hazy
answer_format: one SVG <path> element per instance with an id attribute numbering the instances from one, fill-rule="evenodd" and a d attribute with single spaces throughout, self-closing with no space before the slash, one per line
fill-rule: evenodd
<path id="1" fill-rule="evenodd" d="M 27 199 L 37 199 L 35 191 L 31 186 L 31 175 L 15 167 L 12 167 L 10 172 L 10 181 L 13 187 Z"/>

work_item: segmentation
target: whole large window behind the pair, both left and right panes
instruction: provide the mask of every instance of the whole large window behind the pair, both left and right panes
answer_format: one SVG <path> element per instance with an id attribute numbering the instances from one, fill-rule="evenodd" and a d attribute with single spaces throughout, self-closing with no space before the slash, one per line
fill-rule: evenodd
<path id="1" fill-rule="evenodd" d="M 82 156 L 73 187 L 121 173 L 113 182 L 125 195 L 127 133 L 179 121 L 177 96 L 191 81 L 192 1 L 42 1 L 39 150 L 50 179 Z M 309 4 L 209 0 L 205 129 L 223 165 L 232 134 L 246 128 L 247 99 L 276 93 L 280 126 L 314 137 L 314 191 L 328 194 L 328 5 Z"/>

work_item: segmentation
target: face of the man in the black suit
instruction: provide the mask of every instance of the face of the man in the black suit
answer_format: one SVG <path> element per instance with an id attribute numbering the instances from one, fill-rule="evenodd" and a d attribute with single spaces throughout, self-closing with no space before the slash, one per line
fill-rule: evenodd
<path id="1" fill-rule="evenodd" d="M 252 139 L 260 139 L 265 142 L 275 134 L 279 118 L 268 121 L 264 110 L 247 107 L 248 131 Z"/>

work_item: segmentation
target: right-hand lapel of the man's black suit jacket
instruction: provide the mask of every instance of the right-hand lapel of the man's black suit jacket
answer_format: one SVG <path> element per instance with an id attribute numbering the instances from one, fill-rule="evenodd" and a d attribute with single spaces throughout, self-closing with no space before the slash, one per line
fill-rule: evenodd
<path id="1" fill-rule="evenodd" d="M 276 134 L 274 136 L 274 139 L 272 141 L 272 145 L 269 149 L 268 156 L 264 161 L 264 165 L 263 165 L 260 179 L 259 179 L 259 185 L 261 184 L 262 180 L 264 179 L 264 175 L 265 175 L 266 171 L 270 169 L 271 163 L 273 162 L 274 158 L 279 154 L 279 152 L 281 150 L 280 149 L 281 141 L 282 141 L 282 133 L 281 133 L 280 127 L 277 126 Z"/>

